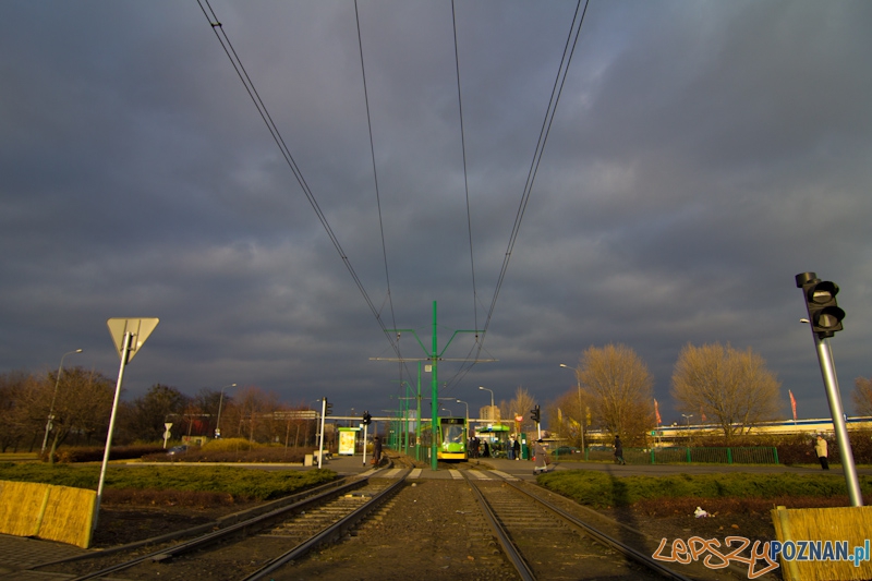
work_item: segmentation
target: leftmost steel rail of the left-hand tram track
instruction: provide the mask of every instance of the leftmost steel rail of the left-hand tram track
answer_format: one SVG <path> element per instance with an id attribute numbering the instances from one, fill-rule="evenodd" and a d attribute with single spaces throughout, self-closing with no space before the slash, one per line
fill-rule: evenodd
<path id="1" fill-rule="evenodd" d="M 293 510 L 298 510 L 300 508 L 307 507 L 308 505 L 312 505 L 312 504 L 315 504 L 315 503 L 319 503 L 324 498 L 336 496 L 337 494 L 343 493 L 346 491 L 358 488 L 361 485 L 365 484 L 367 482 L 367 480 L 368 480 L 368 477 L 363 477 L 363 479 L 359 479 L 359 480 L 352 480 L 352 481 L 348 482 L 347 484 L 343 484 L 341 486 L 332 487 L 332 488 L 330 488 L 328 491 L 325 491 L 323 493 L 319 493 L 319 494 L 316 494 L 316 495 L 313 495 L 313 496 L 308 496 L 308 497 L 306 497 L 306 498 L 304 498 L 304 499 L 302 499 L 302 500 L 300 500 L 298 503 L 293 503 L 292 505 L 288 505 L 288 506 L 284 506 L 284 507 L 281 507 L 281 508 L 277 508 L 275 510 L 270 510 L 269 512 L 266 512 L 264 515 L 258 515 L 257 517 L 253 517 L 251 519 L 243 520 L 241 522 L 238 522 L 235 524 L 231 524 L 231 525 L 226 526 L 223 529 L 219 529 L 219 530 L 214 531 L 211 533 L 207 533 L 207 534 L 197 536 L 196 538 L 192 538 L 191 541 L 185 541 L 183 543 L 179 543 L 178 545 L 173 545 L 173 546 L 171 546 L 169 548 L 161 548 L 159 550 L 155 550 L 155 552 L 148 553 L 146 555 L 141 555 L 141 556 L 135 557 L 133 559 L 130 559 L 128 561 L 120 562 L 120 564 L 117 564 L 117 565 L 112 565 L 110 567 L 107 567 L 105 569 L 100 569 L 98 571 L 93 571 L 93 572 L 89 572 L 89 573 L 85 573 L 83 576 L 73 578 L 71 581 L 84 581 L 86 579 L 95 579 L 95 578 L 98 578 L 98 577 L 105 577 L 105 576 L 107 576 L 109 573 L 113 573 L 113 572 L 117 572 L 117 571 L 122 571 L 124 569 L 130 569 L 131 567 L 140 565 L 141 562 L 145 562 L 147 560 L 162 560 L 162 559 L 171 558 L 171 557 L 177 556 L 177 555 L 182 555 L 184 553 L 190 553 L 191 550 L 195 550 L 195 549 L 201 548 L 201 547 L 203 547 L 205 545 L 217 543 L 218 541 L 220 541 L 220 540 L 222 540 L 222 538 L 225 538 L 227 536 L 231 536 L 233 534 L 237 534 L 240 531 L 244 531 L 245 529 L 247 529 L 250 526 L 262 525 L 263 523 L 268 522 L 270 520 L 274 520 L 277 517 L 281 517 L 287 512 L 291 512 Z"/>

